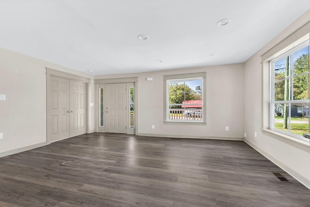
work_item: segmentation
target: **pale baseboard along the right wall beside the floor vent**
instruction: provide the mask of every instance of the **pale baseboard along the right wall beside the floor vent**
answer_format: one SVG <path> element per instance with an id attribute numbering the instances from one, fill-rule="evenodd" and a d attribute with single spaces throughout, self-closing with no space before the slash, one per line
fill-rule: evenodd
<path id="1" fill-rule="evenodd" d="M 261 149 L 260 147 L 256 146 L 249 140 L 244 140 L 248 145 L 250 145 L 252 148 L 254 148 L 256 151 L 258 151 L 260 154 L 262 154 L 265 158 L 272 161 L 274 164 L 276 164 L 279 168 L 290 174 L 292 177 L 294 177 L 296 180 L 298 180 L 301 184 L 306 186 L 308 189 L 310 189 L 310 180 L 304 177 L 303 175 L 300 175 L 296 171 L 294 171 L 292 168 L 284 164 L 283 162 L 279 161 L 278 159 L 271 156 L 269 153 Z"/>

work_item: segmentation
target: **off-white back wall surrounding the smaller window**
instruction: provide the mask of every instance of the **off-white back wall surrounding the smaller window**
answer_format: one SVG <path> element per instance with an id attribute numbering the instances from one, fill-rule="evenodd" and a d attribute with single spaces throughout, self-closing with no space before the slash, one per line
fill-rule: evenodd
<path id="1" fill-rule="evenodd" d="M 148 136 L 243 139 L 243 64 L 95 76 L 95 79 L 138 77 L 138 134 Z M 164 124 L 165 75 L 206 72 L 206 125 Z M 146 81 L 146 78 L 153 81 Z M 152 129 L 155 125 L 155 129 Z M 226 131 L 225 126 L 230 130 Z"/>

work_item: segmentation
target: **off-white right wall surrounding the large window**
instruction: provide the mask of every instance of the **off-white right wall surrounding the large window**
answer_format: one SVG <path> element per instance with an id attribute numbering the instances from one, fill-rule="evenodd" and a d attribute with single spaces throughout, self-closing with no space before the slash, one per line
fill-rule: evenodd
<path id="1" fill-rule="evenodd" d="M 310 10 L 282 31 L 245 63 L 244 128 L 246 142 L 310 188 L 310 147 L 264 132 L 262 128 L 261 55 L 310 20 Z M 310 31 L 308 31 L 310 32 Z M 267 114 L 268 115 L 268 114 Z M 254 137 L 257 132 L 257 138 Z"/>

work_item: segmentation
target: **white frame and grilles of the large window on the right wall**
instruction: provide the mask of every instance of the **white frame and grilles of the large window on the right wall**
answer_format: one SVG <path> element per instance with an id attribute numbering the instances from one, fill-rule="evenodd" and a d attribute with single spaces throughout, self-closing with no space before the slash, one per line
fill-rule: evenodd
<path id="1" fill-rule="evenodd" d="M 274 119 L 274 114 L 275 114 L 275 110 L 274 110 L 274 105 L 275 104 L 288 104 L 288 126 L 289 126 L 289 130 L 291 129 L 291 104 L 298 104 L 298 103 L 310 103 L 310 100 L 309 99 L 306 99 L 306 100 L 293 100 L 294 98 L 294 77 L 297 77 L 297 76 L 301 76 L 301 75 L 305 75 L 305 74 L 309 74 L 310 76 L 310 73 L 309 71 L 307 73 L 302 73 L 302 74 L 298 74 L 297 76 L 294 76 L 294 63 L 292 62 L 291 64 L 291 67 L 292 67 L 292 71 L 291 71 L 291 74 L 290 74 L 290 77 L 288 78 L 290 81 L 291 81 L 291 91 L 292 93 L 290 94 L 291 98 L 289 98 L 290 100 L 281 100 L 281 101 L 275 101 L 275 68 L 274 68 L 274 64 L 283 59 L 284 57 L 287 57 L 289 55 L 294 55 L 294 52 L 302 49 L 302 48 L 305 48 L 309 46 L 309 40 L 299 44 L 298 46 L 288 50 L 287 52 L 279 55 L 277 58 L 271 60 L 269 62 L 269 68 L 270 68 L 270 101 L 269 101 L 269 128 L 271 130 L 274 130 L 274 131 L 277 131 L 279 133 L 283 133 L 283 134 L 286 134 L 286 135 L 289 135 L 289 136 L 292 136 L 292 137 L 295 137 L 295 138 L 298 138 L 298 139 L 302 139 L 302 140 L 305 140 L 305 141 L 309 141 L 309 139 L 306 139 L 302 136 L 299 136 L 299 135 L 296 135 L 296 134 L 293 134 L 293 133 L 290 133 L 290 132 L 286 132 L 286 131 L 282 131 L 282 130 L 279 130 L 277 128 L 274 127 L 275 125 L 275 119 Z M 278 80 L 278 81 L 282 81 L 282 80 Z M 309 90 L 310 91 L 310 90 Z"/>

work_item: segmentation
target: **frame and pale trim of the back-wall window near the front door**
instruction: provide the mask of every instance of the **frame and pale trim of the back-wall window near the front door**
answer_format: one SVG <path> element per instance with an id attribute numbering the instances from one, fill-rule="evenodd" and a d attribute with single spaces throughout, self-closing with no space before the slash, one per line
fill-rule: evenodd
<path id="1" fill-rule="evenodd" d="M 169 113 L 169 81 L 202 80 L 202 120 L 171 120 Z M 191 73 L 164 76 L 164 124 L 205 125 L 206 122 L 206 73 Z M 183 105 L 183 104 L 180 104 Z M 197 104 L 188 104 L 197 105 Z"/>

